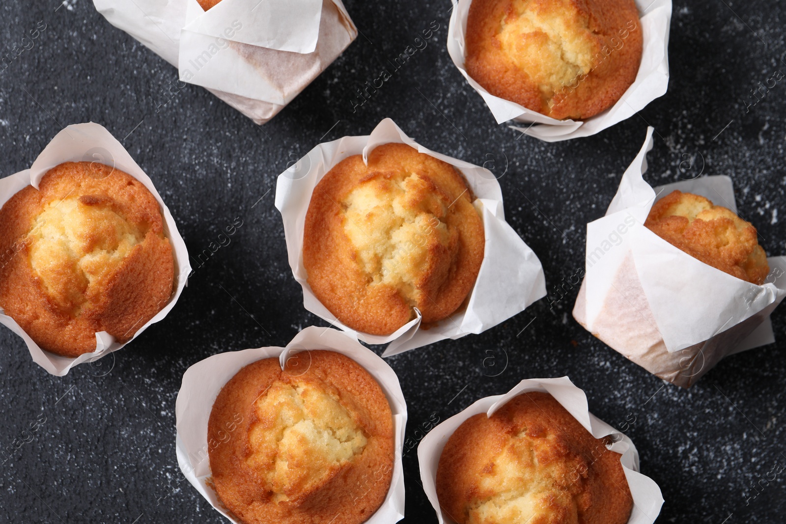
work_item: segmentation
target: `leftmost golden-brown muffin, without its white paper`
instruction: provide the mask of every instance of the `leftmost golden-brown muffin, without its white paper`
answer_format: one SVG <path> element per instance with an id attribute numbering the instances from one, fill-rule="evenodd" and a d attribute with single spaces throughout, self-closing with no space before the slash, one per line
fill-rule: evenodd
<path id="1" fill-rule="evenodd" d="M 156 198 L 101 163 L 50 169 L 0 209 L 0 307 L 42 349 L 131 339 L 167 303 L 174 257 Z"/>

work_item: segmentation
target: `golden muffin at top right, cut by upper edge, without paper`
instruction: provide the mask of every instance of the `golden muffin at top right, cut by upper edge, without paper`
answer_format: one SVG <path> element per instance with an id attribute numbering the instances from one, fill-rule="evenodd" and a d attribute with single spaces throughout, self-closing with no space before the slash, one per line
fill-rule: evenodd
<path id="1" fill-rule="evenodd" d="M 554 119 L 615 104 L 643 49 L 634 0 L 473 0 L 465 42 L 472 79 Z"/>

